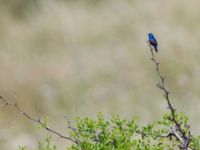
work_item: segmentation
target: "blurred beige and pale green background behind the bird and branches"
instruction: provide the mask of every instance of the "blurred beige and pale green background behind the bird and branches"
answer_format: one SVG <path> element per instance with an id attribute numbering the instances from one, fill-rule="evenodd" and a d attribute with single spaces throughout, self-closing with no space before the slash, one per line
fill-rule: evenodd
<path id="1" fill-rule="evenodd" d="M 147 33 L 171 99 L 200 128 L 200 9 L 196 0 L 0 0 L 0 95 L 63 134 L 75 117 L 137 117 L 168 112 L 156 88 Z M 67 133 L 66 133 L 67 134 Z M 34 145 L 48 132 L 0 107 L 0 149 Z M 54 137 L 60 148 L 65 141 Z"/>

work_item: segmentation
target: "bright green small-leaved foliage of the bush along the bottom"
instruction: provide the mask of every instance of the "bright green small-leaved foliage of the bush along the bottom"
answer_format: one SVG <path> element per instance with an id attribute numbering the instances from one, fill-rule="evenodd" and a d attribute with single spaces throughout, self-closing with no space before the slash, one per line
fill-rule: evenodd
<path id="1" fill-rule="evenodd" d="M 178 113 L 176 116 L 182 122 L 184 132 L 188 118 Z M 77 118 L 74 128 L 69 128 L 70 137 L 77 141 L 68 150 L 174 150 L 179 147 L 179 139 L 170 134 L 174 124 L 170 114 L 165 114 L 159 121 L 146 126 L 139 126 L 136 119 L 121 119 L 114 114 L 109 119 L 99 113 L 96 119 Z M 192 137 L 191 149 L 200 149 L 200 137 Z M 21 147 L 20 150 L 25 150 Z M 39 143 L 36 150 L 56 150 L 51 146 L 50 139 L 45 144 Z"/>

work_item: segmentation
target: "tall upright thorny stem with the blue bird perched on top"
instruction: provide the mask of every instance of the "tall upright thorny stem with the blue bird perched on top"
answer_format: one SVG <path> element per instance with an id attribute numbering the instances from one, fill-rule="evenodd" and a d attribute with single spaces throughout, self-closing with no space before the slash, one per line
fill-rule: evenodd
<path id="1" fill-rule="evenodd" d="M 160 78 L 160 82 L 157 84 L 157 87 L 159 89 L 161 89 L 164 93 L 164 97 L 167 101 L 167 105 L 168 105 L 168 109 L 171 112 L 171 118 L 169 118 L 170 121 L 172 121 L 175 124 L 175 129 L 171 128 L 169 134 L 176 137 L 176 139 L 178 139 L 182 144 L 179 146 L 180 149 L 182 150 L 187 150 L 189 148 L 189 144 L 191 142 L 191 135 L 190 135 L 190 131 L 188 134 L 186 134 L 184 132 L 184 130 L 182 129 L 181 126 L 181 122 L 178 122 L 177 118 L 176 118 L 176 109 L 173 107 L 170 98 L 169 98 L 169 94 L 170 92 L 166 89 L 165 86 L 165 78 L 164 76 L 161 74 L 160 72 L 160 68 L 159 68 L 159 62 L 155 59 L 154 56 L 154 49 L 152 48 L 151 44 L 147 41 L 147 44 L 150 48 L 150 52 L 151 52 L 151 60 L 153 61 L 155 67 L 156 67 L 156 72 L 158 74 L 158 77 Z M 191 147 L 190 147 L 191 148 Z M 193 149 L 193 148 L 191 148 Z"/>

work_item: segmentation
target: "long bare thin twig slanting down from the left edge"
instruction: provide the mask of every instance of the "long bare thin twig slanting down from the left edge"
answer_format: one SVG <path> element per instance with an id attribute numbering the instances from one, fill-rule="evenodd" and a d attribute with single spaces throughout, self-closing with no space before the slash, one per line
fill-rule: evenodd
<path id="1" fill-rule="evenodd" d="M 4 106 L 12 106 L 14 107 L 21 115 L 23 115 L 25 118 L 27 118 L 28 120 L 32 121 L 32 122 L 35 122 L 36 124 L 39 124 L 41 125 L 42 127 L 44 127 L 44 129 L 46 129 L 47 131 L 57 135 L 59 138 L 63 138 L 63 139 L 67 139 L 75 144 L 79 144 L 79 142 L 75 139 L 72 139 L 71 137 L 68 137 L 68 136 L 65 136 L 65 135 L 62 135 L 61 133 L 59 133 L 58 131 L 50 128 L 50 127 L 47 127 L 46 124 L 44 122 L 41 121 L 41 119 L 35 119 L 33 117 L 31 117 L 29 114 L 27 114 L 26 112 L 24 112 L 17 104 L 17 102 L 15 103 L 11 103 L 11 102 L 8 102 L 6 99 L 4 99 L 2 96 L 0 96 L 0 100 L 4 103 Z"/>

